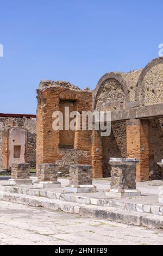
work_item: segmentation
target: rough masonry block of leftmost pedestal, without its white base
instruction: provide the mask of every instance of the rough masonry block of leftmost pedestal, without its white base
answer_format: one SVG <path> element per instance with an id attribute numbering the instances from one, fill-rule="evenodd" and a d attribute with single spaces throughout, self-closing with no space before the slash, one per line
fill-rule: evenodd
<path id="1" fill-rule="evenodd" d="M 12 163 L 11 178 L 12 179 L 29 179 L 30 163 Z"/>

